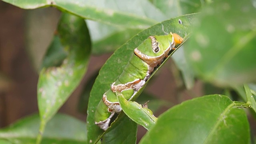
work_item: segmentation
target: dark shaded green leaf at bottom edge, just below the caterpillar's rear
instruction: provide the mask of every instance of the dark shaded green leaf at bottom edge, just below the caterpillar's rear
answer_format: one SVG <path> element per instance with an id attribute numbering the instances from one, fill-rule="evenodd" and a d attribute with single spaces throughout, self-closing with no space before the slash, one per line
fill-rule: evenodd
<path id="1" fill-rule="evenodd" d="M 102 144 L 136 144 L 137 124 L 130 120 L 124 112 L 121 112 L 115 121 L 117 126 L 112 126 L 106 130 L 102 137 Z M 124 129 L 127 126 L 129 129 Z"/>

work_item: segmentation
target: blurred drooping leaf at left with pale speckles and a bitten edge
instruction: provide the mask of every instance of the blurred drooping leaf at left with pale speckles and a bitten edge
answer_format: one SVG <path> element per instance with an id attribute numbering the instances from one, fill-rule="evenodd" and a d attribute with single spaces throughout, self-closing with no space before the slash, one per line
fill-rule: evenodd
<path id="1" fill-rule="evenodd" d="M 70 14 L 62 15 L 58 25 L 58 34 L 49 47 L 44 60 L 58 55 L 54 49 L 60 50 L 60 47 L 63 48 L 67 57 L 59 67 L 45 68 L 48 65 L 44 61 L 42 66 L 44 68 L 41 70 L 38 80 L 41 133 L 43 133 L 44 124 L 64 104 L 86 72 L 90 56 L 90 36 L 84 19 Z"/>

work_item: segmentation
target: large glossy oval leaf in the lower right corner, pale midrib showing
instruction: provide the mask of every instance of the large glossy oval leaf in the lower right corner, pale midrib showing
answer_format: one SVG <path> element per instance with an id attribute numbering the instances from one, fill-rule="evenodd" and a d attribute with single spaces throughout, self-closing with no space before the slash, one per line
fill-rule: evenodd
<path id="1" fill-rule="evenodd" d="M 223 95 L 176 105 L 159 116 L 140 144 L 248 144 L 246 113 Z"/>

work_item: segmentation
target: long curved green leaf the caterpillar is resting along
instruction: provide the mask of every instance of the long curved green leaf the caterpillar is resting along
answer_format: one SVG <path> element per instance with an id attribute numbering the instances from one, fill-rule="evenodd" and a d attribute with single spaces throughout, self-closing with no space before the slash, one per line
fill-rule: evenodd
<path id="1" fill-rule="evenodd" d="M 94 143 L 103 133 L 103 130 L 101 130 L 94 123 L 94 113 L 96 107 L 102 99 L 104 92 L 110 88 L 110 84 L 112 84 L 112 82 L 114 82 L 124 70 L 124 67 L 128 63 L 134 48 L 140 45 L 150 35 L 164 35 L 162 29 L 164 29 L 165 32 L 175 32 L 182 37 L 186 36 L 189 33 L 191 21 L 194 15 L 195 14 L 185 15 L 166 20 L 161 24 L 157 24 L 151 28 L 143 30 L 118 48 L 118 50 L 116 50 L 114 54 L 107 60 L 104 66 L 102 66 L 90 93 L 87 116 L 88 140 L 91 140 Z M 179 19 L 183 21 L 182 24 L 179 24 Z M 158 70 L 158 68 L 156 70 Z M 142 92 L 144 87 L 140 90 L 140 92 L 137 93 L 137 96 Z M 117 123 L 112 124 L 112 126 L 117 125 Z M 126 126 L 121 127 L 123 128 L 123 131 L 130 129 Z"/>

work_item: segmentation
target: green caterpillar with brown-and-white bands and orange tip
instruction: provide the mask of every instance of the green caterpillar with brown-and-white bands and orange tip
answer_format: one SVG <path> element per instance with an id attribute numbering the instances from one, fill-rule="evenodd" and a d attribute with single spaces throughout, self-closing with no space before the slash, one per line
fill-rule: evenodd
<path id="1" fill-rule="evenodd" d="M 95 124 L 106 130 L 114 113 L 122 110 L 116 92 L 122 93 L 127 100 L 132 99 L 148 80 L 154 68 L 160 65 L 170 50 L 174 50 L 182 41 L 178 34 L 172 33 L 164 36 L 149 36 L 135 48 L 122 74 L 103 94 L 94 115 Z"/>

